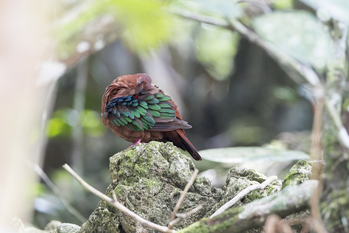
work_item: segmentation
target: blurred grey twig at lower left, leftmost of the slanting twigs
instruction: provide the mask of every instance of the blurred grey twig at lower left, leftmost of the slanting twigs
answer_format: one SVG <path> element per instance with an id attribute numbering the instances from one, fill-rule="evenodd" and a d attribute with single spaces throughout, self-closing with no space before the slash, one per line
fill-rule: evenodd
<path id="1" fill-rule="evenodd" d="M 50 178 L 46 175 L 46 173 L 39 167 L 39 165 L 33 165 L 35 172 L 40 176 L 40 178 L 46 183 L 46 185 L 52 190 L 52 192 L 61 199 L 64 207 L 69 211 L 69 213 L 73 214 L 81 223 L 85 223 L 87 219 L 82 216 L 82 214 L 77 211 L 73 206 L 71 206 L 66 198 L 62 195 L 61 191 L 57 188 L 57 186 L 50 180 Z"/>

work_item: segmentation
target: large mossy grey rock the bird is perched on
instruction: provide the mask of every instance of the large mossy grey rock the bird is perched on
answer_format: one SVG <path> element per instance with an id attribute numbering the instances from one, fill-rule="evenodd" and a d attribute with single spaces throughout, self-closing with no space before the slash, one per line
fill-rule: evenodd
<path id="1" fill-rule="evenodd" d="M 140 143 L 110 158 L 111 185 L 119 202 L 139 216 L 162 226 L 168 225 L 174 206 L 194 172 L 190 158 L 180 153 L 172 143 L 151 141 Z M 202 204 L 201 210 L 177 224 L 174 229 L 188 226 L 208 216 L 212 206 L 222 197 L 222 191 L 211 192 L 211 182 L 197 176 L 186 194 L 178 213 L 185 213 Z M 133 218 L 101 201 L 83 224 L 79 233 L 155 232 Z"/>

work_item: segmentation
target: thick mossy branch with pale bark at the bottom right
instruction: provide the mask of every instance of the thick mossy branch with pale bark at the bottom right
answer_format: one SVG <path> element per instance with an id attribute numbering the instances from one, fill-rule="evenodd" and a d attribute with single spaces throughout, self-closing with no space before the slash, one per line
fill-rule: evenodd
<path id="1" fill-rule="evenodd" d="M 318 186 L 317 180 L 287 186 L 280 192 L 250 202 L 244 206 L 224 211 L 213 218 L 204 218 L 178 231 L 178 233 L 239 233 L 265 224 L 270 214 L 281 218 L 309 207 L 310 197 Z"/>

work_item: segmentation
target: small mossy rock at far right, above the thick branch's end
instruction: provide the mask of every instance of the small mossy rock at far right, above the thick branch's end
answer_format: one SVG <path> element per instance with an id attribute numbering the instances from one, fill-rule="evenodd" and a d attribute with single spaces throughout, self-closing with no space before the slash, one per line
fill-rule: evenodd
<path id="1" fill-rule="evenodd" d="M 299 185 L 310 179 L 312 163 L 304 159 L 299 160 L 285 175 L 282 188 L 288 185 Z"/>

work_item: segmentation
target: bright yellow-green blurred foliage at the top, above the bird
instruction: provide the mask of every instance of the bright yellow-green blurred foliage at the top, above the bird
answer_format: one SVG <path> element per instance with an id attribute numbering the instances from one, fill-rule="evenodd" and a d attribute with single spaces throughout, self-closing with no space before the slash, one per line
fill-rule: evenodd
<path id="1" fill-rule="evenodd" d="M 104 33 L 116 34 L 115 38 L 123 38 L 134 51 L 154 48 L 170 38 L 172 18 L 163 9 L 166 6 L 165 1 L 95 0 L 81 5 L 83 4 L 88 6 L 84 6 L 81 14 L 61 22 L 55 29 L 61 53 L 74 52 L 80 42 L 92 40 L 88 36 L 94 34 L 102 38 Z M 107 28 L 98 27 L 98 20 L 101 20 L 102 16 L 104 21 L 109 22 Z"/>

